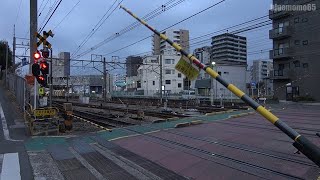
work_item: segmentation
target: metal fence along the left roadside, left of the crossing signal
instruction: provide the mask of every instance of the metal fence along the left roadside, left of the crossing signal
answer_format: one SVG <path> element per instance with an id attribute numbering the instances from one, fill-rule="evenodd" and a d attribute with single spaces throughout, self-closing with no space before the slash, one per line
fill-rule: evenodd
<path id="1" fill-rule="evenodd" d="M 30 93 L 26 88 L 26 80 L 15 74 L 8 74 L 7 88 L 13 93 L 21 110 L 24 110 L 26 100 L 30 99 Z"/>

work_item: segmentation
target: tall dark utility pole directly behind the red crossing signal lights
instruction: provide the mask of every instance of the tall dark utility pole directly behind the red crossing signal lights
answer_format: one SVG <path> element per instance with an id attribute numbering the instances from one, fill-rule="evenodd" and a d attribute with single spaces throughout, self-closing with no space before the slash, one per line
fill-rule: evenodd
<path id="1" fill-rule="evenodd" d="M 33 53 L 36 52 L 36 32 L 38 28 L 38 0 L 30 0 L 30 66 L 29 73 L 32 72 L 32 64 L 34 63 Z M 34 78 L 34 98 L 33 108 L 37 108 L 37 80 Z"/>

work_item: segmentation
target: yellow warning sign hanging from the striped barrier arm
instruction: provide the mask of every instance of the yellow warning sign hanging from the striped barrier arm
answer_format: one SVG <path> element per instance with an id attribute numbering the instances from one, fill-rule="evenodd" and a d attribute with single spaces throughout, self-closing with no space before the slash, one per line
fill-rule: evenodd
<path id="1" fill-rule="evenodd" d="M 200 71 L 199 68 L 190 63 L 190 61 L 185 56 L 181 56 L 181 59 L 176 64 L 175 68 L 176 70 L 187 76 L 189 80 L 196 79 Z"/>

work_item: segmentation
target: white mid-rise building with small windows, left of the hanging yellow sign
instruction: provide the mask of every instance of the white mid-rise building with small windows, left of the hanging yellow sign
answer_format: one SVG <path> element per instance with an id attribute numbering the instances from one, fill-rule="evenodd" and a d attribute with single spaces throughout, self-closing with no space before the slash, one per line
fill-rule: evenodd
<path id="1" fill-rule="evenodd" d="M 138 69 L 137 90 L 141 95 L 153 96 L 159 94 L 160 83 L 160 62 L 162 61 L 162 86 L 168 94 L 178 94 L 183 90 L 183 80 L 185 76 L 175 70 L 175 65 L 181 56 L 159 55 L 147 56 L 143 58 L 143 63 Z"/>

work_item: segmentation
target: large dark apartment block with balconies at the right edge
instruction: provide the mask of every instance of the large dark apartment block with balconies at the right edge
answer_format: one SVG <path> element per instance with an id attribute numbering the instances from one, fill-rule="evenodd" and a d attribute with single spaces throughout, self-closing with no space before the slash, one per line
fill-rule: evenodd
<path id="1" fill-rule="evenodd" d="M 273 0 L 273 4 L 320 7 L 319 0 Z M 279 100 L 320 101 L 316 83 L 320 77 L 318 9 L 310 11 L 273 9 L 269 11 L 269 18 L 273 22 L 269 37 L 273 40 L 270 59 L 273 59 L 274 67 L 271 73 L 274 96 Z"/>

